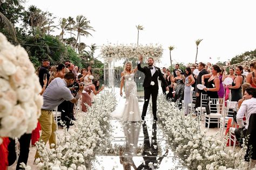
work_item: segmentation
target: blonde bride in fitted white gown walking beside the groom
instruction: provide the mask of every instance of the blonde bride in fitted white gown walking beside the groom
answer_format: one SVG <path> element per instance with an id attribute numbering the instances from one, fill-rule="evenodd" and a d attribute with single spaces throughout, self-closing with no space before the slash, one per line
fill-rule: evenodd
<path id="1" fill-rule="evenodd" d="M 142 121 L 137 97 L 137 85 L 133 79 L 138 68 L 132 69 L 132 63 L 127 61 L 124 66 L 124 72 L 121 73 L 120 96 L 123 96 L 123 87 L 126 96 L 126 102 L 122 113 L 124 122 Z"/>

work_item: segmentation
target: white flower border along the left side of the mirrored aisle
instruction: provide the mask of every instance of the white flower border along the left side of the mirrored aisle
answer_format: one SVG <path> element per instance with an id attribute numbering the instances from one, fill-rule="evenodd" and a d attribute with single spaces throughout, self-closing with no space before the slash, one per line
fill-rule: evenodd
<path id="1" fill-rule="evenodd" d="M 63 136 L 57 135 L 56 148 L 46 148 L 37 143 L 41 158 L 36 160 L 38 169 L 85 170 L 93 155 L 106 152 L 109 145 L 110 113 L 116 108 L 114 95 L 105 93 L 87 108 L 79 112 L 74 126 Z"/>

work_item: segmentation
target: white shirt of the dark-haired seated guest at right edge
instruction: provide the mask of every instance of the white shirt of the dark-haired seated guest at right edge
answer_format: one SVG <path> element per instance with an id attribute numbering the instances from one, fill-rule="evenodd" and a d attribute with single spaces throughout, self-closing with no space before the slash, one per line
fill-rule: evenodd
<path id="1" fill-rule="evenodd" d="M 237 113 L 237 124 L 239 125 L 239 127 L 245 126 L 244 121 L 242 121 L 242 118 L 245 115 L 246 117 L 245 128 L 247 129 L 249 125 L 250 116 L 251 114 L 255 114 L 255 113 L 256 113 L 256 98 L 251 98 L 242 102 L 242 105 Z"/>

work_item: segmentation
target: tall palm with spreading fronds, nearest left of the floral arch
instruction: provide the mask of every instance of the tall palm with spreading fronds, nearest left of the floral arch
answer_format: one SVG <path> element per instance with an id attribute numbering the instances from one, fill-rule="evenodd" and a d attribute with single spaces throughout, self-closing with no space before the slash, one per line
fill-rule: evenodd
<path id="1" fill-rule="evenodd" d="M 79 38 L 79 44 L 80 44 L 81 36 L 86 36 L 86 37 L 88 37 L 89 35 L 92 36 L 92 34 L 90 32 L 88 32 L 87 30 L 91 30 L 91 31 L 95 31 L 95 30 L 93 30 L 93 27 L 89 25 L 90 20 L 87 20 L 87 18 L 82 15 L 77 16 L 76 22 L 77 23 L 74 26 L 74 30 L 77 31 L 77 41 Z M 77 42 L 76 42 L 76 44 L 77 44 Z"/>

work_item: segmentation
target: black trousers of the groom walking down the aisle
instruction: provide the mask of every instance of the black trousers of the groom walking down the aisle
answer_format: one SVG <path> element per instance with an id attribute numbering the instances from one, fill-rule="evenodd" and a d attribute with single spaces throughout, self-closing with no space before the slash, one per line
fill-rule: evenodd
<path id="1" fill-rule="evenodd" d="M 150 87 L 144 87 L 144 104 L 142 110 L 142 118 L 146 116 L 147 106 L 149 105 L 150 96 L 152 96 L 152 113 L 154 118 L 157 118 L 157 95 L 158 89 Z"/>

